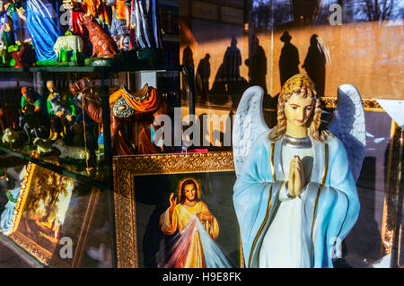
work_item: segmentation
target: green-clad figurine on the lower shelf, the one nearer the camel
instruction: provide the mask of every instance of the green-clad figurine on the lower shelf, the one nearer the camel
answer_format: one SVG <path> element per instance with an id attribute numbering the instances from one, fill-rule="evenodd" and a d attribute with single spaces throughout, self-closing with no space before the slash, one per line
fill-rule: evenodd
<path id="1" fill-rule="evenodd" d="M 47 99 L 48 115 L 50 117 L 50 137 L 52 140 L 65 137 L 75 119 L 75 104 L 69 95 L 60 95 L 53 81 L 47 82 L 49 91 Z"/>

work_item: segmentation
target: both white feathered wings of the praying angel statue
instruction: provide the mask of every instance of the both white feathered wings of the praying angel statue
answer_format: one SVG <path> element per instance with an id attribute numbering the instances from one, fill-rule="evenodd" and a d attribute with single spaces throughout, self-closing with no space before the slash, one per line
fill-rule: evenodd
<path id="1" fill-rule="evenodd" d="M 262 109 L 263 99 L 262 88 L 250 87 L 242 94 L 242 100 L 237 108 L 233 124 L 233 157 L 236 176 L 242 170 L 252 144 L 257 141 L 260 134 L 269 131 Z M 364 162 L 366 145 L 364 107 L 359 91 L 351 84 L 339 86 L 337 102 L 334 117 L 328 128 L 344 144 L 349 166 L 357 180 Z"/>

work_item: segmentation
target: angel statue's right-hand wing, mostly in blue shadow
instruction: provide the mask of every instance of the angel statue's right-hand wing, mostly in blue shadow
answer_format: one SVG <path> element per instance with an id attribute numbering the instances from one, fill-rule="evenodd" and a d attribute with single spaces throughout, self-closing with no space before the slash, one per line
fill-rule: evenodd
<path id="1" fill-rule="evenodd" d="M 352 84 L 339 86 L 337 108 L 328 129 L 344 144 L 356 181 L 364 162 L 366 129 L 361 95 Z"/>

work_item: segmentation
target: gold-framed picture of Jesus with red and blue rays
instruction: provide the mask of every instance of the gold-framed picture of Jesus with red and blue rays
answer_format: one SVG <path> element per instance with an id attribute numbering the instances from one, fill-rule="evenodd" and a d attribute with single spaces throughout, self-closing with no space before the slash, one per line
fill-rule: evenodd
<path id="1" fill-rule="evenodd" d="M 232 152 L 113 159 L 119 267 L 241 266 Z"/>

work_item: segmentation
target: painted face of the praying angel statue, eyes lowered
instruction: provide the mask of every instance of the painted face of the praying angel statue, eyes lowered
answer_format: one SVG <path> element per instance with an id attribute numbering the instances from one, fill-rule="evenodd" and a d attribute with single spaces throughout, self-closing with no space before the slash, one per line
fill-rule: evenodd
<path id="1" fill-rule="evenodd" d="M 285 102 L 285 117 L 288 125 L 307 126 L 309 118 L 314 109 L 314 100 L 312 97 L 303 98 L 299 93 L 294 93 L 289 100 Z"/>

